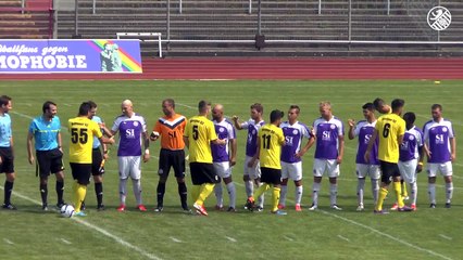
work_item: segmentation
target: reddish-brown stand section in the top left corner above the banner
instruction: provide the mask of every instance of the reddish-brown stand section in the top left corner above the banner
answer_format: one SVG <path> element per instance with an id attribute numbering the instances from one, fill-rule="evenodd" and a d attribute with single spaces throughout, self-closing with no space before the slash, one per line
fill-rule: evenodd
<path id="1" fill-rule="evenodd" d="M 53 37 L 51 0 L 0 0 L 1 39 L 49 39 Z"/>

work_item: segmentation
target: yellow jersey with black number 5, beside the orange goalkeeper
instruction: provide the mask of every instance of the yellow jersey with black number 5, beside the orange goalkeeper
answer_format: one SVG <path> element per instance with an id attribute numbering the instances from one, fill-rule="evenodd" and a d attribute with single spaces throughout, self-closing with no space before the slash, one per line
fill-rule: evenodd
<path id="1" fill-rule="evenodd" d="M 214 123 L 204 116 L 191 117 L 184 136 L 189 141 L 189 161 L 212 164 L 211 141 L 217 139 Z"/>

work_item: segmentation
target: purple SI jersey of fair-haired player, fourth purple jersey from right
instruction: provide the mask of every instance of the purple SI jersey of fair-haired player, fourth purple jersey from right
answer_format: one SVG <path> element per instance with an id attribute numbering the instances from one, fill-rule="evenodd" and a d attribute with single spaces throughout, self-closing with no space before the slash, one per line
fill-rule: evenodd
<path id="1" fill-rule="evenodd" d="M 331 117 L 329 120 L 320 117 L 313 122 L 313 131 L 316 136 L 315 158 L 337 159 L 338 138 L 345 134 L 342 121 L 337 117 Z"/>

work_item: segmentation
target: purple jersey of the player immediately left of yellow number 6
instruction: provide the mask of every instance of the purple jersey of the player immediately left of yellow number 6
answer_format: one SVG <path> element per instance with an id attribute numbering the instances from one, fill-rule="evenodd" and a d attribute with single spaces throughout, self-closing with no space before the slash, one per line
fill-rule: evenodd
<path id="1" fill-rule="evenodd" d="M 376 142 L 373 144 L 373 148 L 372 148 L 372 152 L 370 153 L 368 161 L 365 161 L 365 158 L 364 158 L 366 148 L 368 147 L 370 139 L 375 132 L 375 126 L 376 126 L 376 120 L 374 122 L 368 122 L 367 120 L 360 120 L 356 123 L 355 129 L 353 130 L 354 135 L 359 138 L 359 147 L 356 150 L 356 158 L 355 158 L 356 164 L 379 165 L 378 139 L 376 139 Z"/>

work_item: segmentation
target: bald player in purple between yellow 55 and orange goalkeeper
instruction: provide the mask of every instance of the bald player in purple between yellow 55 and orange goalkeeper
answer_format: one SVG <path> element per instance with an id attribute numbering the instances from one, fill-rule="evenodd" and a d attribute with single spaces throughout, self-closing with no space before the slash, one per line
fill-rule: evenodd
<path id="1" fill-rule="evenodd" d="M 122 115 L 116 117 L 111 134 L 120 133 L 117 162 L 120 174 L 120 200 L 117 211 L 125 210 L 125 198 L 127 196 L 127 179 L 132 178 L 137 209 L 147 211 L 141 200 L 141 144 L 145 146 L 143 162 L 150 159 L 150 140 L 147 133 L 145 118 L 134 112 L 132 101 L 125 100 L 121 105 Z"/>

